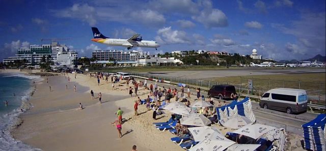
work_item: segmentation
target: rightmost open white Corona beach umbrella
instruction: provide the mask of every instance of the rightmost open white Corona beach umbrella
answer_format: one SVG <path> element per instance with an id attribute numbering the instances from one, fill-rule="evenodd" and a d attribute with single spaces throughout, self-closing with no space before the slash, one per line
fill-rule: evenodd
<path id="1" fill-rule="evenodd" d="M 236 134 L 241 134 L 244 136 L 248 136 L 254 139 L 257 139 L 261 135 L 267 133 L 268 131 L 275 130 L 275 127 L 261 125 L 261 124 L 253 124 L 253 125 L 246 125 L 242 128 L 232 132 Z"/>

